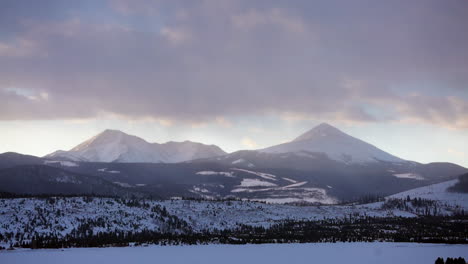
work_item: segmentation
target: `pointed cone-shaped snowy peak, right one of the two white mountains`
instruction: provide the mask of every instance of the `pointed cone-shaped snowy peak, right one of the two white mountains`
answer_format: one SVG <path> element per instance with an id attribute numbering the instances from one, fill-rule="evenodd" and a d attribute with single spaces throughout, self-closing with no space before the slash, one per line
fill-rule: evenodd
<path id="1" fill-rule="evenodd" d="M 259 151 L 267 153 L 301 151 L 324 153 L 330 159 L 344 163 L 405 162 L 403 159 L 349 136 L 326 123 L 316 126 L 291 142 L 260 149 Z"/>

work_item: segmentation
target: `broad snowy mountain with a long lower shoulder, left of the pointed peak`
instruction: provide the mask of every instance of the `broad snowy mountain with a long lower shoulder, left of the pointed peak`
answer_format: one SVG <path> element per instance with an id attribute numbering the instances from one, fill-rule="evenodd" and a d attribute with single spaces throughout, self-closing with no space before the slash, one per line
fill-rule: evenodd
<path id="1" fill-rule="evenodd" d="M 105 130 L 70 151 L 56 151 L 45 158 L 86 162 L 173 163 L 226 154 L 219 147 L 184 141 L 149 143 L 118 130 Z"/>

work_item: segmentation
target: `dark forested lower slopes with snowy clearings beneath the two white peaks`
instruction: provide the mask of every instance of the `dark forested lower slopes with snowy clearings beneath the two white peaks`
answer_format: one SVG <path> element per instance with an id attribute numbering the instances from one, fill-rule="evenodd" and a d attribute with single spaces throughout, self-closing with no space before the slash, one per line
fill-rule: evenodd
<path id="1" fill-rule="evenodd" d="M 159 198 L 232 197 L 277 203 L 336 203 L 369 194 L 394 194 L 454 179 L 467 172 L 449 163 L 345 164 L 324 154 L 308 152 L 240 151 L 213 159 L 170 164 L 37 159 L 47 166 L 40 165 L 39 169 L 17 166 L 17 159 L 10 168 L 0 170 L 0 192 L 131 193 Z M 26 156 L 21 163 L 30 161 Z M 62 177 L 61 173 L 72 177 Z"/>

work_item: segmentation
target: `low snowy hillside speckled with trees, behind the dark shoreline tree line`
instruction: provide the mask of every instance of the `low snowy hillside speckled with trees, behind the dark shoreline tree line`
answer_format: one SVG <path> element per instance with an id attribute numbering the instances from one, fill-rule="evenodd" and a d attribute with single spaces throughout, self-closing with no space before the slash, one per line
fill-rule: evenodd
<path id="1" fill-rule="evenodd" d="M 98 197 L 0 199 L 0 245 L 8 246 L 15 241 L 15 236 L 7 236 L 8 233 L 20 233 L 23 240 L 31 239 L 36 233 L 64 237 L 83 224 L 92 226 L 95 234 L 145 229 L 182 232 L 185 223 L 195 231 L 223 230 L 241 225 L 269 227 L 286 220 L 340 219 L 351 214 L 416 216 L 364 206 L 288 206 L 247 201 L 144 200 L 135 203 Z M 170 219 L 172 221 L 168 221 Z"/>

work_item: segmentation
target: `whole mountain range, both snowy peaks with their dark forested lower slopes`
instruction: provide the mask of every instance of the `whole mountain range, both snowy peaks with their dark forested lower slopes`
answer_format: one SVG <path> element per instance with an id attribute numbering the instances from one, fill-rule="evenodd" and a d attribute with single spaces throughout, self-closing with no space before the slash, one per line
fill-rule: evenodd
<path id="1" fill-rule="evenodd" d="M 456 164 L 398 158 L 325 123 L 291 142 L 229 154 L 214 145 L 148 143 L 105 130 L 42 158 L 0 154 L 0 192 L 334 204 L 467 172 Z"/>

